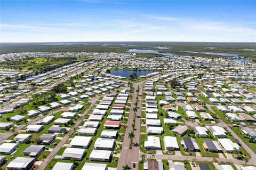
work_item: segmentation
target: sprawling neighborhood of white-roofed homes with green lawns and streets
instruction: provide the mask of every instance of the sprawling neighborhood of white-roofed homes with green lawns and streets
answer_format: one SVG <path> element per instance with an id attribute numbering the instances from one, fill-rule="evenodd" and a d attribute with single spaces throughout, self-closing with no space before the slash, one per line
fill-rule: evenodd
<path id="1" fill-rule="evenodd" d="M 255 64 L 63 55 L 88 59 L 1 70 L 2 169 L 256 168 Z"/>

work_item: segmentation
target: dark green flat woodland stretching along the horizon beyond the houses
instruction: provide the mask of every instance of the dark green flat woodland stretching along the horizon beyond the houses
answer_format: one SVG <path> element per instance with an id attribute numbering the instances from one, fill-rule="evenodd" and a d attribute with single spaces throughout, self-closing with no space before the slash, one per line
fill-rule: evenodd
<path id="1" fill-rule="evenodd" d="M 177 55 L 196 55 L 205 58 L 222 57 L 220 55 L 205 54 L 203 52 L 223 52 L 241 54 L 251 60 L 256 60 L 256 43 L 207 43 L 207 42 L 95 42 L 95 43 L 1 43 L 0 53 L 14 52 L 127 52 L 131 48 L 142 50 L 156 50 L 161 53 Z M 168 47 L 158 49 L 157 47 Z M 190 53 L 184 51 L 197 51 Z M 138 53 L 138 57 L 152 58 L 159 54 Z"/>

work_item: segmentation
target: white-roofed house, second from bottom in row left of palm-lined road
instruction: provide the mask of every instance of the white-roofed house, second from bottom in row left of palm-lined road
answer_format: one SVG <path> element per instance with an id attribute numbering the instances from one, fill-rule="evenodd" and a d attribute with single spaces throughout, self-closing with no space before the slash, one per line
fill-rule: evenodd
<path id="1" fill-rule="evenodd" d="M 108 161 L 111 156 L 111 150 L 95 150 L 93 149 L 89 160 L 92 161 Z"/>

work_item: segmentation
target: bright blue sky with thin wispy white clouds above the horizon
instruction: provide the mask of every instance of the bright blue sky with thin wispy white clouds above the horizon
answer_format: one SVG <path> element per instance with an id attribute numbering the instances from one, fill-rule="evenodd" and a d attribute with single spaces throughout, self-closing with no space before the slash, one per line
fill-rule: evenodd
<path id="1" fill-rule="evenodd" d="M 1 42 L 256 42 L 255 1 L 1 1 Z"/>

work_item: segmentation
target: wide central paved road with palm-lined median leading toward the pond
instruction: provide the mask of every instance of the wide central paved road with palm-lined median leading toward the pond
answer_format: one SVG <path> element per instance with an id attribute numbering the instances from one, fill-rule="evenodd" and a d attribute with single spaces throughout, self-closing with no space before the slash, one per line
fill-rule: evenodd
<path id="1" fill-rule="evenodd" d="M 138 164 L 138 162 L 139 162 L 139 147 L 133 147 L 132 149 L 129 149 L 129 137 L 128 136 L 132 129 L 132 120 L 133 120 L 133 116 L 134 116 L 132 108 L 135 106 L 134 103 L 136 102 L 136 96 L 137 96 L 136 90 L 139 86 L 140 92 L 141 92 L 142 84 L 143 84 L 143 82 L 133 84 L 134 93 L 133 93 L 131 108 L 130 108 L 130 112 L 129 112 L 127 127 L 125 130 L 123 147 L 121 150 L 121 155 L 119 158 L 117 169 L 122 169 L 122 166 L 124 166 L 126 164 L 129 165 L 130 167 L 132 167 L 132 163 L 136 164 L 136 167 L 132 168 L 132 169 L 138 169 L 138 166 L 139 166 L 139 164 Z M 141 106 L 142 106 L 142 96 L 139 96 L 137 116 L 141 116 Z M 140 118 L 135 119 L 135 129 L 136 130 L 134 131 L 135 137 L 134 137 L 133 143 L 140 143 Z"/>

